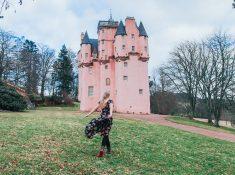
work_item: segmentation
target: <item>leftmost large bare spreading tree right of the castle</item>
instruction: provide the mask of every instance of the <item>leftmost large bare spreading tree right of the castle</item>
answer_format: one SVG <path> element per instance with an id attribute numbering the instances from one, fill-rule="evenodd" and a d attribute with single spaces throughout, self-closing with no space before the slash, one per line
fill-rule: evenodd
<path id="1" fill-rule="evenodd" d="M 189 102 L 189 113 L 195 116 L 199 81 L 201 78 L 201 60 L 198 55 L 198 43 L 181 43 L 171 53 L 171 58 L 164 66 L 164 73 L 176 90 L 186 93 Z"/>

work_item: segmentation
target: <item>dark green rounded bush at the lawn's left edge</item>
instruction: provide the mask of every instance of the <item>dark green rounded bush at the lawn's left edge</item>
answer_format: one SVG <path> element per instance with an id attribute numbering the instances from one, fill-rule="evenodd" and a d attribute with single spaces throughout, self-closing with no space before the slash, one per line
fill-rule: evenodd
<path id="1" fill-rule="evenodd" d="M 0 110 L 23 111 L 27 108 L 24 98 L 15 89 L 0 82 Z"/>

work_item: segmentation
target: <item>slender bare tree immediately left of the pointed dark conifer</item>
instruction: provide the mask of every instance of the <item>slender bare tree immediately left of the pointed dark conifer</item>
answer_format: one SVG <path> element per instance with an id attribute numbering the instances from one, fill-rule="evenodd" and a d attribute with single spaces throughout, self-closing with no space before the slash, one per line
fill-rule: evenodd
<path id="1" fill-rule="evenodd" d="M 40 61 L 40 87 L 41 92 L 40 95 L 44 100 L 44 92 L 46 82 L 48 81 L 48 75 L 52 69 L 54 58 L 55 58 L 55 51 L 50 49 L 46 45 L 40 44 L 39 46 L 39 61 Z"/>

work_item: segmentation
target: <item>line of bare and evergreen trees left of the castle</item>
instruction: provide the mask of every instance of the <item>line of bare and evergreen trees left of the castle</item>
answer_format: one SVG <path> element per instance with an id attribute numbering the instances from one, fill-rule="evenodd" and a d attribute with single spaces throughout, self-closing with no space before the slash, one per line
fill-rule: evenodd
<path id="1" fill-rule="evenodd" d="M 65 45 L 58 56 L 45 44 L 18 37 L 0 28 L 0 80 L 22 87 L 32 96 L 76 99 L 76 56 Z"/>

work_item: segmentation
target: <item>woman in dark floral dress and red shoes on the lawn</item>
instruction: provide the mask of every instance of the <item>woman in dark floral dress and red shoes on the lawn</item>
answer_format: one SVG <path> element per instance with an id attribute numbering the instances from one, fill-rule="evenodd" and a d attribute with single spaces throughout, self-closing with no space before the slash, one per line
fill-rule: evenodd
<path id="1" fill-rule="evenodd" d="M 112 115 L 113 115 L 113 101 L 109 99 L 110 93 L 105 92 L 101 101 L 98 102 L 97 106 L 89 112 L 85 117 L 88 117 L 97 109 L 101 109 L 101 114 L 98 119 L 93 119 L 85 129 L 85 134 L 88 138 L 92 138 L 96 133 L 100 133 L 103 137 L 101 143 L 100 152 L 97 157 L 103 157 L 105 147 L 107 148 L 107 154 L 111 153 L 111 146 L 109 142 L 109 132 L 112 126 Z"/>

